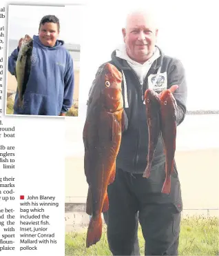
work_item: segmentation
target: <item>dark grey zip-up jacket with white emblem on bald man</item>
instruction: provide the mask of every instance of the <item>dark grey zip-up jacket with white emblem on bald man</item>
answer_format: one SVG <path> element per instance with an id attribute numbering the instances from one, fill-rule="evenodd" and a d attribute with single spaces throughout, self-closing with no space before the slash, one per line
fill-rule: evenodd
<path id="1" fill-rule="evenodd" d="M 130 68 L 127 61 L 116 57 L 116 51 L 112 52 L 112 61 L 109 62 L 123 74 L 124 110 L 127 116 L 125 120 L 126 129 L 123 132 L 121 147 L 116 158 L 116 168 L 121 168 L 129 173 L 143 173 L 147 166 L 148 150 L 147 116 L 145 104 L 143 104 L 145 90 L 153 88 L 159 93 L 174 84 L 179 86 L 173 93 L 178 104 L 177 125 L 179 125 L 185 118 L 186 113 L 187 84 L 185 70 L 178 59 L 168 57 L 160 50 L 160 57 L 152 63 L 143 86 L 141 86 L 134 70 Z M 160 136 L 152 170 L 164 162 L 165 153 Z"/>

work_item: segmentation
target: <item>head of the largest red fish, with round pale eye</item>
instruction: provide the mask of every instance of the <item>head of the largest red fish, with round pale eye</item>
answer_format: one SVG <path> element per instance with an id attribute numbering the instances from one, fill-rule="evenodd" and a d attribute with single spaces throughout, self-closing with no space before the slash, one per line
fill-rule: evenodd
<path id="1" fill-rule="evenodd" d="M 106 63 L 102 94 L 105 109 L 109 112 L 123 108 L 122 81 L 121 72 L 114 65 Z"/>

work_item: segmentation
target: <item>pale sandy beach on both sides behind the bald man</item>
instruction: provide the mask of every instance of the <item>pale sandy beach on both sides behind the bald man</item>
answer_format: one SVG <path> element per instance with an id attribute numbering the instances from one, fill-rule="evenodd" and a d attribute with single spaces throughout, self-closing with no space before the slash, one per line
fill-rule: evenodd
<path id="1" fill-rule="evenodd" d="M 185 209 L 218 207 L 219 148 L 176 152 Z M 85 202 L 83 156 L 65 158 L 65 202 Z"/>

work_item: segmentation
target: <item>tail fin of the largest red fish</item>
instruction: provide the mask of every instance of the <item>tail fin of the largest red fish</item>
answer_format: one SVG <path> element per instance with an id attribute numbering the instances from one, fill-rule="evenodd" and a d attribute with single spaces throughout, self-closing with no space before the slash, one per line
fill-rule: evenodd
<path id="1" fill-rule="evenodd" d="M 90 224 L 87 229 L 86 247 L 89 248 L 93 244 L 100 241 L 102 236 L 102 217 L 101 214 L 90 219 Z"/>

